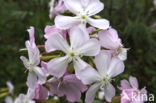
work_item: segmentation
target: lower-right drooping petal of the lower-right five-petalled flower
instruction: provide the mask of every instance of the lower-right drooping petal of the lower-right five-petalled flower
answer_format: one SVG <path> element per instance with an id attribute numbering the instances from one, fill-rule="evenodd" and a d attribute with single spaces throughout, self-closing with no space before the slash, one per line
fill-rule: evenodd
<path id="1" fill-rule="evenodd" d="M 115 88 L 111 83 L 107 83 L 104 88 L 105 98 L 108 102 L 111 102 L 112 98 L 115 96 Z"/>

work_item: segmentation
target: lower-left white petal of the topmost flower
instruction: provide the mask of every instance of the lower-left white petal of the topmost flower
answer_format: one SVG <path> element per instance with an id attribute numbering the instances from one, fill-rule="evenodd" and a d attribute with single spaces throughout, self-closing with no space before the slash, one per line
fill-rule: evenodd
<path id="1" fill-rule="evenodd" d="M 59 29 L 69 29 L 75 25 L 80 24 L 80 17 L 62 16 L 58 15 L 55 18 L 55 25 Z"/>

